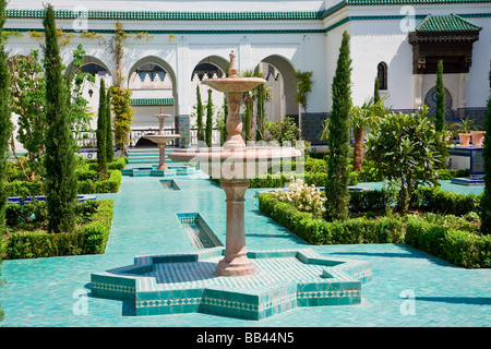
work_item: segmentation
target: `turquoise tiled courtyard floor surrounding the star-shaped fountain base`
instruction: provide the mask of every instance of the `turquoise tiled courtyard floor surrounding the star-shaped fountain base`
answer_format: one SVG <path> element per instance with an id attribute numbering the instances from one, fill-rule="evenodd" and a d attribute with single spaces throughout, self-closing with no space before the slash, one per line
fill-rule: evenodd
<path id="1" fill-rule="evenodd" d="M 4 261 L 0 326 L 490 326 L 491 270 L 464 269 L 404 244 L 311 246 L 262 215 L 249 190 L 246 229 L 249 250 L 311 248 L 333 258 L 369 261 L 373 280 L 362 286 L 361 304 L 296 308 L 262 321 L 193 313 L 132 316 L 124 302 L 91 297 L 91 274 L 130 265 L 133 257 L 196 251 L 178 213 L 200 213 L 225 241 L 225 194 L 206 177 L 176 176 L 181 190 L 163 189 L 159 178 L 123 177 L 104 255 Z M 360 186 L 380 185 L 361 183 Z M 443 183 L 458 192 L 479 192 Z M 408 298 L 409 297 L 409 298 Z M 414 298 L 412 298 L 414 297 Z M 410 311 L 408 311 L 410 310 Z"/>

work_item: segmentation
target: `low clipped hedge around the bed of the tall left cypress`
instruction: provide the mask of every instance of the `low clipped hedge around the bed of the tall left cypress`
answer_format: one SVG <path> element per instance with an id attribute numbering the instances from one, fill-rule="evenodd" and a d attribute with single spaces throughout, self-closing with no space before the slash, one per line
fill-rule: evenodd
<path id="1" fill-rule="evenodd" d="M 33 217 L 43 212 L 41 205 L 37 208 L 31 205 L 33 204 L 24 206 L 10 204 L 8 216 L 13 219 L 14 214 L 20 213 L 24 218 L 29 213 L 29 217 Z M 14 260 L 104 253 L 111 229 L 112 212 L 111 200 L 87 201 L 76 206 L 80 225 L 73 232 L 48 233 L 41 230 L 12 232 L 5 242 L 5 257 Z M 43 225 L 40 218 L 33 219 L 27 225 Z M 16 224 L 19 225 L 19 221 Z M 25 224 L 22 227 L 26 228 Z"/>

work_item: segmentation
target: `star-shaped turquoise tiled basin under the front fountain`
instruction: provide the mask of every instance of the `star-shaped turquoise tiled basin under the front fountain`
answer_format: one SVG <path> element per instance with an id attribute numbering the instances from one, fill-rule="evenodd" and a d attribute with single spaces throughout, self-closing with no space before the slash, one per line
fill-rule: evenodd
<path id="1" fill-rule="evenodd" d="M 369 262 L 331 260 L 310 249 L 248 253 L 258 272 L 219 277 L 223 248 L 140 256 L 134 264 L 92 274 L 92 296 L 131 301 L 135 315 L 207 313 L 263 320 L 297 306 L 361 302 Z"/>

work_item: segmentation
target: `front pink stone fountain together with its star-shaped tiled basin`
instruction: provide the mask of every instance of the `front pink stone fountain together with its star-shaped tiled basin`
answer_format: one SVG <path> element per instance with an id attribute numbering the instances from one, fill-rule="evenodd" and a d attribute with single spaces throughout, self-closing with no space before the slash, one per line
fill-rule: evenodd
<path id="1" fill-rule="evenodd" d="M 250 178 L 265 173 L 274 161 L 300 156 L 300 152 L 246 146 L 240 135 L 240 100 L 243 92 L 264 80 L 238 77 L 233 52 L 230 76 L 203 83 L 227 97 L 227 142 L 223 147 L 176 149 L 169 157 L 220 179 L 227 203 L 225 249 L 200 214 L 180 213 L 190 241 L 194 241 L 192 226 L 200 226 L 211 238 L 209 245 L 193 243 L 199 250 L 192 253 L 143 255 L 135 257 L 133 265 L 93 273 L 92 296 L 125 301 L 134 315 L 199 312 L 248 320 L 263 320 L 297 306 L 359 304 L 361 284 L 372 279 L 369 262 L 332 260 L 310 249 L 248 253 L 244 194 Z"/>

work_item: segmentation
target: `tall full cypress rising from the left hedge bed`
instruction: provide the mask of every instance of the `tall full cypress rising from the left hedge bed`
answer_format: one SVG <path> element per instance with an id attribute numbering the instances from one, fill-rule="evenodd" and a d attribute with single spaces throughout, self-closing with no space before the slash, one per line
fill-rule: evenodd
<path id="1" fill-rule="evenodd" d="M 75 156 L 70 129 L 69 91 L 62 73 L 55 11 L 47 5 L 43 20 L 46 44 L 46 205 L 49 232 L 70 232 L 75 226 L 76 197 Z"/>

